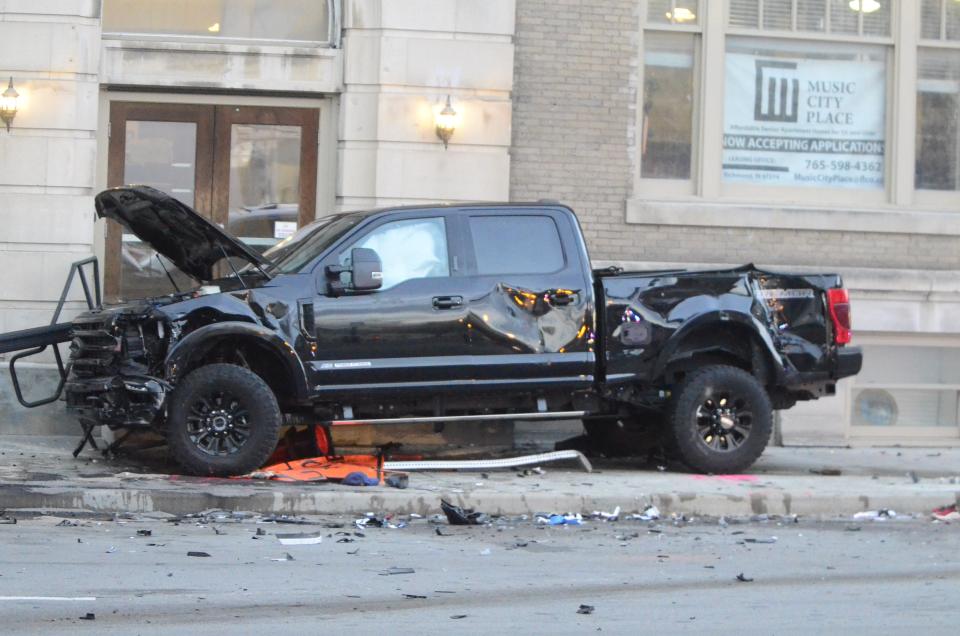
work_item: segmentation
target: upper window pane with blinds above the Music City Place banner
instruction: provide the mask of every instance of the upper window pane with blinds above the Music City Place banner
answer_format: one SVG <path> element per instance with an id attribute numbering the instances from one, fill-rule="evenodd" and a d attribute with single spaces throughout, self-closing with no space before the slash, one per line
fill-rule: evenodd
<path id="1" fill-rule="evenodd" d="M 952 1 L 952 0 L 951 0 Z M 888 0 L 730 0 L 731 28 L 890 35 Z"/>

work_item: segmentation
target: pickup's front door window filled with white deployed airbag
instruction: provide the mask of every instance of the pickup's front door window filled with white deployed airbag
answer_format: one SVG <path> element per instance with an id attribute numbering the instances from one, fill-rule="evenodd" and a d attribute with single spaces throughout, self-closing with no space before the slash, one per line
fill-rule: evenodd
<path id="1" fill-rule="evenodd" d="M 380 256 L 381 290 L 414 278 L 450 276 L 446 225 L 442 218 L 385 223 L 341 252 L 341 265 L 350 263 L 350 250 L 355 247 L 372 249 Z"/>

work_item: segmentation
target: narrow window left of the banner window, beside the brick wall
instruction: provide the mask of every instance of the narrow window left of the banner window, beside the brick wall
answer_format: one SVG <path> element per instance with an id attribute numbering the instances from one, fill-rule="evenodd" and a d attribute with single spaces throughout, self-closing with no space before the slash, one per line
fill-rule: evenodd
<path id="1" fill-rule="evenodd" d="M 700 3 L 650 0 L 643 33 L 640 176 L 690 182 L 699 94 Z"/>

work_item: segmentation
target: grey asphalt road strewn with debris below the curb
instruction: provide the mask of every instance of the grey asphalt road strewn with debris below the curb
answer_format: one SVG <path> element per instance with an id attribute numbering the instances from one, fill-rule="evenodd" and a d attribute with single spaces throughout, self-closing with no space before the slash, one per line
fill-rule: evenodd
<path id="1" fill-rule="evenodd" d="M 361 537 L 352 518 L 317 521 L 0 525 L 0 631 L 956 634 L 960 625 L 960 523 L 514 520 L 444 525 L 438 536 L 419 519 Z M 317 545 L 275 536 L 315 531 Z M 293 560 L 277 560 L 286 554 Z M 741 573 L 753 580 L 737 581 Z M 578 614 L 581 604 L 593 613 Z M 94 620 L 79 619 L 88 612 Z"/>

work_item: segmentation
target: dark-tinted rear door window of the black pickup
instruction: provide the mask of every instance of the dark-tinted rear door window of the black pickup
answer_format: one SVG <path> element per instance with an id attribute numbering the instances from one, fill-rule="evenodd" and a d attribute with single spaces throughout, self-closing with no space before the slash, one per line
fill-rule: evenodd
<path id="1" fill-rule="evenodd" d="M 563 269 L 557 224 L 548 216 L 472 216 L 477 274 L 549 274 Z"/>

